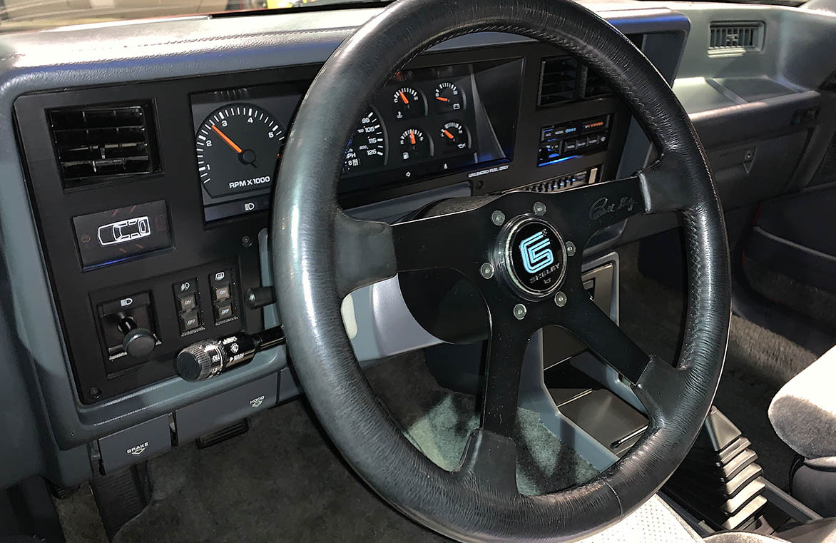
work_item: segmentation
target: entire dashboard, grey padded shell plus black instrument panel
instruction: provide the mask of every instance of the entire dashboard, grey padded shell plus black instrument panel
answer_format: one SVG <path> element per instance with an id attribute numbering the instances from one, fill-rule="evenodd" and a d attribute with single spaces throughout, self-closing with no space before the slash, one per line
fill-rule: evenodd
<path id="1" fill-rule="evenodd" d="M 832 17 L 713 3 L 594 8 L 673 85 L 726 207 L 813 177 L 833 136 L 820 88 L 833 68 L 820 60 L 836 49 Z M 212 411 L 206 402 L 250 387 L 249 409 L 266 393 L 257 387 L 272 390 L 262 407 L 299 393 L 281 347 L 200 383 L 176 378 L 173 361 L 196 341 L 280 323 L 273 306 L 245 302 L 272 281 L 262 247 L 283 141 L 319 67 L 375 13 L 0 35 L 0 123 L 14 135 L 0 140 L 0 403 L 18 414 L 5 436 L 13 446 L 0 451 L 7 483 L 48 474 L 73 486 L 126 430 L 153 423 L 171 447 L 171 421 L 184 440 L 206 431 L 186 432 Z M 766 33 L 749 49 L 712 50 L 711 29 L 732 23 Z M 444 197 L 605 182 L 650 156 L 592 70 L 485 33 L 395 74 L 334 160 L 344 209 L 397 220 Z M 601 233 L 590 254 L 676 225 L 646 219 Z"/>

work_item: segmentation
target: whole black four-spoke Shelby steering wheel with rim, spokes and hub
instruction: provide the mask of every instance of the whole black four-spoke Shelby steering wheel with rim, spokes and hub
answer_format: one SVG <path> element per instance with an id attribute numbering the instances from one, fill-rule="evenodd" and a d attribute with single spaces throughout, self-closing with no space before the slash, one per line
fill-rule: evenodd
<path id="1" fill-rule="evenodd" d="M 391 226 L 347 217 L 336 197 L 344 151 L 375 95 L 424 49 L 483 31 L 536 38 L 588 64 L 630 106 L 659 159 L 612 182 L 460 198 L 429 217 Z M 705 151 L 670 87 L 594 13 L 571 0 L 391 4 L 340 45 L 314 79 L 274 196 L 273 284 L 298 379 L 349 464 L 405 515 L 460 541 L 574 540 L 639 507 L 691 448 L 728 339 L 721 207 Z M 688 257 L 686 333 L 676 366 L 630 341 L 589 299 L 580 271 L 582 249 L 600 228 L 669 210 L 681 215 Z M 458 270 L 477 285 L 490 314 L 481 428 L 468 436 L 461 464 L 449 472 L 410 443 L 375 396 L 340 316 L 351 290 L 414 269 Z M 594 479 L 523 496 L 512 428 L 523 352 L 545 325 L 571 330 L 618 370 L 650 422 L 639 442 Z"/>

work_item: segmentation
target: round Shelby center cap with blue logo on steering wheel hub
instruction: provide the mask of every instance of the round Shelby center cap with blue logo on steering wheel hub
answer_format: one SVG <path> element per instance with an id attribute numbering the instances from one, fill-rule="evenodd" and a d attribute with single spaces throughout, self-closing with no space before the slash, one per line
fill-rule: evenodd
<path id="1" fill-rule="evenodd" d="M 566 273 L 566 246 L 543 218 L 523 215 L 507 223 L 499 262 L 512 288 L 528 300 L 553 295 Z"/>

